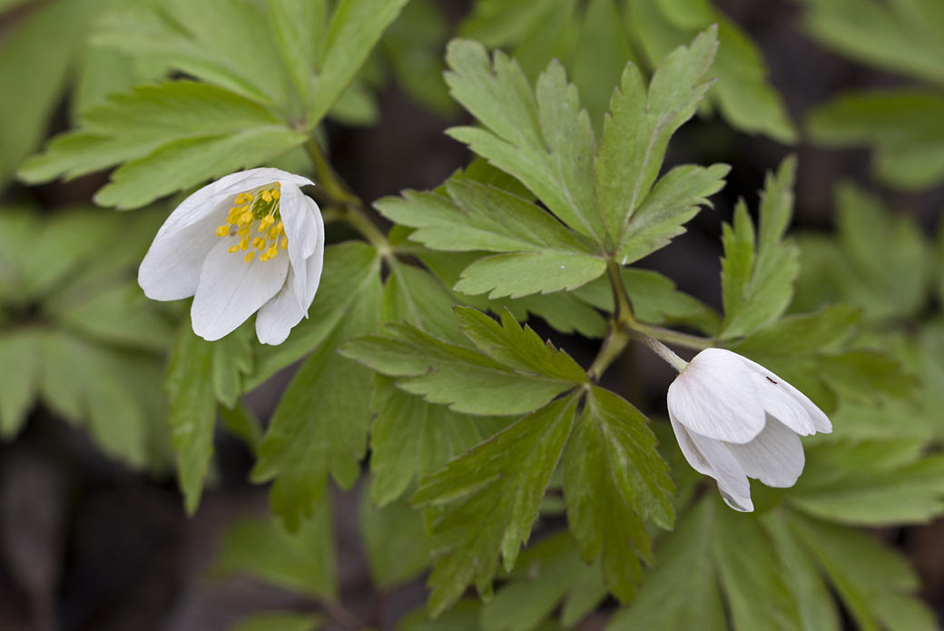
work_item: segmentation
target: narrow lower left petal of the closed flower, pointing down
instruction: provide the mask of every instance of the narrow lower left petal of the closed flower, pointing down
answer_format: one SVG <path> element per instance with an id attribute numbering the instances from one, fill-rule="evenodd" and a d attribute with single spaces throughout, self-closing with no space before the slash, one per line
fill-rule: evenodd
<path id="1" fill-rule="evenodd" d="M 677 419 L 668 415 L 672 430 L 679 441 L 685 460 L 699 473 L 710 475 L 717 481 L 717 490 L 725 503 L 734 510 L 750 512 L 754 504 L 750 501 L 750 483 L 740 463 L 724 443 L 694 434 L 685 429 Z"/>

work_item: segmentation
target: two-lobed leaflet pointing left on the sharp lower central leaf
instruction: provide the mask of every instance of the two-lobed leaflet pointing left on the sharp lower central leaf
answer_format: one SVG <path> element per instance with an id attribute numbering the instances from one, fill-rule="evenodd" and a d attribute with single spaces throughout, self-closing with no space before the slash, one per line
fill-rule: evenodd
<path id="1" fill-rule="evenodd" d="M 563 351 L 543 345 L 511 314 L 503 315 L 503 328 L 473 309 L 457 308 L 457 315 L 464 322 L 464 333 L 481 352 L 402 324 L 388 325 L 389 336 L 362 337 L 341 352 L 396 377 L 397 386 L 406 392 L 467 414 L 524 414 L 586 383 L 581 367 Z M 482 391 L 490 396 L 483 398 Z"/>

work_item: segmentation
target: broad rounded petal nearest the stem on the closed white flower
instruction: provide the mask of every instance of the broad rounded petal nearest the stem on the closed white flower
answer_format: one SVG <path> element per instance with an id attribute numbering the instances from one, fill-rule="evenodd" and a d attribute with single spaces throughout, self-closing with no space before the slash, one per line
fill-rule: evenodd
<path id="1" fill-rule="evenodd" d="M 702 350 L 668 386 L 669 415 L 695 434 L 750 442 L 766 414 L 743 359 L 730 350 Z"/>

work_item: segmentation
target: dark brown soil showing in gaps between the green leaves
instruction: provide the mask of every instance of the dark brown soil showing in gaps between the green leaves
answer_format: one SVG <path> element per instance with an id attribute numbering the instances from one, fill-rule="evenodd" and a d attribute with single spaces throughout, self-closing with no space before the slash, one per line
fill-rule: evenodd
<path id="1" fill-rule="evenodd" d="M 441 0 L 453 18 L 465 2 Z M 799 8 L 785 0 L 717 0 L 764 49 L 773 83 L 789 111 L 805 111 L 844 89 L 900 82 L 844 60 L 806 39 Z M 375 128 L 329 128 L 332 162 L 363 199 L 396 194 L 403 188 L 438 185 L 469 156 L 443 134 L 461 120 L 443 120 L 397 91 L 381 95 L 383 120 Z M 772 169 L 791 150 L 800 158 L 796 229 L 829 230 L 832 188 L 840 179 L 865 183 L 890 205 L 914 213 L 932 230 L 944 207 L 944 190 L 904 195 L 869 183 L 864 150 L 794 149 L 761 137 L 734 132 L 717 119 L 696 120 L 676 136 L 669 162 L 729 162 L 733 171 L 716 209 L 704 211 L 689 232 L 643 262 L 658 269 L 702 300 L 719 306 L 720 222 L 730 220 L 733 203 L 744 196 L 751 206 Z M 51 203 L 87 200 L 101 177 L 42 190 Z M 597 347 L 579 337 L 562 339 L 541 323 L 584 365 Z M 630 373 L 640 377 L 649 413 L 665 413 L 665 388 L 673 373 L 645 353 L 615 366 L 611 385 L 624 388 Z M 249 396 L 267 418 L 289 375 L 279 375 Z M 622 382 L 622 384 L 621 384 Z M 0 446 L 0 631 L 222 631 L 250 613 L 274 607 L 319 610 L 291 593 L 248 579 L 211 580 L 206 571 L 218 536 L 233 520 L 261 514 L 266 488 L 250 486 L 251 458 L 242 443 L 219 435 L 218 484 L 187 519 L 174 480 L 156 480 L 124 469 L 97 452 L 83 434 L 43 409 L 34 410 L 25 433 Z M 346 611 L 374 628 L 392 628 L 405 611 L 421 605 L 421 582 L 390 593 L 370 584 L 358 533 L 359 488 L 335 493 L 342 600 Z M 944 611 L 944 520 L 927 526 L 884 531 L 921 575 L 923 596 Z M 335 612 L 334 618 L 345 616 Z M 601 629 L 604 617 L 582 629 Z M 338 622 L 335 628 L 345 626 Z"/>

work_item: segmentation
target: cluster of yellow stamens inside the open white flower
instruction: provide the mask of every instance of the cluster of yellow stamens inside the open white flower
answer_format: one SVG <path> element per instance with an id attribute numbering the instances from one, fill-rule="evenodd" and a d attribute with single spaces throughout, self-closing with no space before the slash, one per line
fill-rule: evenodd
<path id="1" fill-rule="evenodd" d="M 216 236 L 234 239 L 229 252 L 245 252 L 245 263 L 251 263 L 257 251 L 264 263 L 276 258 L 279 249 L 289 247 L 282 215 L 278 213 L 280 190 L 281 185 L 276 182 L 235 196 L 227 222 L 216 229 Z M 249 250 L 250 246 L 254 249 Z"/>

